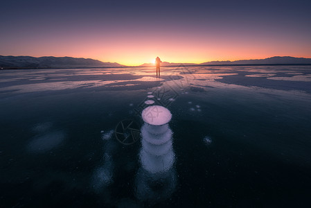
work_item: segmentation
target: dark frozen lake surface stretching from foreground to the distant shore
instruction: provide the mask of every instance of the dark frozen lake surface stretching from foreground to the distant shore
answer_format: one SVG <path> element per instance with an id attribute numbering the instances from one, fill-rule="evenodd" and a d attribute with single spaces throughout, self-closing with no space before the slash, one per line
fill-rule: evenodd
<path id="1" fill-rule="evenodd" d="M 310 106 L 311 66 L 1 70 L 0 203 L 310 207 Z"/>

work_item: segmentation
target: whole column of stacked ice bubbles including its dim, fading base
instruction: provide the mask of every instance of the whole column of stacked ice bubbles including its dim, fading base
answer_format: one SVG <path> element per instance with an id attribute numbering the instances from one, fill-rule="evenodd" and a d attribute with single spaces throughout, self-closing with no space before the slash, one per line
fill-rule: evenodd
<path id="1" fill-rule="evenodd" d="M 172 130 L 168 127 L 172 114 L 165 107 L 152 105 L 143 110 L 142 117 L 145 123 L 141 128 L 141 168 L 136 174 L 135 193 L 153 207 L 170 198 L 177 185 Z"/>

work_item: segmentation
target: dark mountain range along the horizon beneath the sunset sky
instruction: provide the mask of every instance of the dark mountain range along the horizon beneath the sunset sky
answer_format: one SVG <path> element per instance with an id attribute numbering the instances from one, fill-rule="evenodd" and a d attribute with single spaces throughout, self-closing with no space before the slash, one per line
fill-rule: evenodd
<path id="1" fill-rule="evenodd" d="M 291 56 L 274 56 L 256 60 L 212 61 L 201 64 L 162 62 L 162 67 L 201 65 L 239 65 L 239 64 L 311 64 L 311 58 L 294 58 Z M 0 55 L 0 68 L 3 69 L 51 69 L 51 68 L 87 68 L 87 67 L 126 67 L 116 62 L 101 62 L 91 58 L 53 57 L 44 56 L 3 56 Z M 139 67 L 154 67 L 154 64 L 145 63 Z"/>

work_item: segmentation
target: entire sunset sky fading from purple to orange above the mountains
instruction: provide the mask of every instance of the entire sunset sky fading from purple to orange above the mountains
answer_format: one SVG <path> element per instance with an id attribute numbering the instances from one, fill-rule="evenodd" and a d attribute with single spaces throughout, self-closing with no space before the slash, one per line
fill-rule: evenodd
<path id="1" fill-rule="evenodd" d="M 311 58 L 311 1 L 3 1 L 0 55 L 139 65 Z"/>

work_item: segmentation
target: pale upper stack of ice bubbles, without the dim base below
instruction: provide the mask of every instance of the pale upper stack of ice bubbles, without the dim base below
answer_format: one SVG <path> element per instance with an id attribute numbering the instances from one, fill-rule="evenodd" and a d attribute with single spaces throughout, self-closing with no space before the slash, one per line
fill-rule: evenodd
<path id="1" fill-rule="evenodd" d="M 166 172 L 172 167 L 175 158 L 172 130 L 168 127 L 172 114 L 166 107 L 152 105 L 146 107 L 141 115 L 145 121 L 141 128 L 141 165 L 150 173 Z"/>

